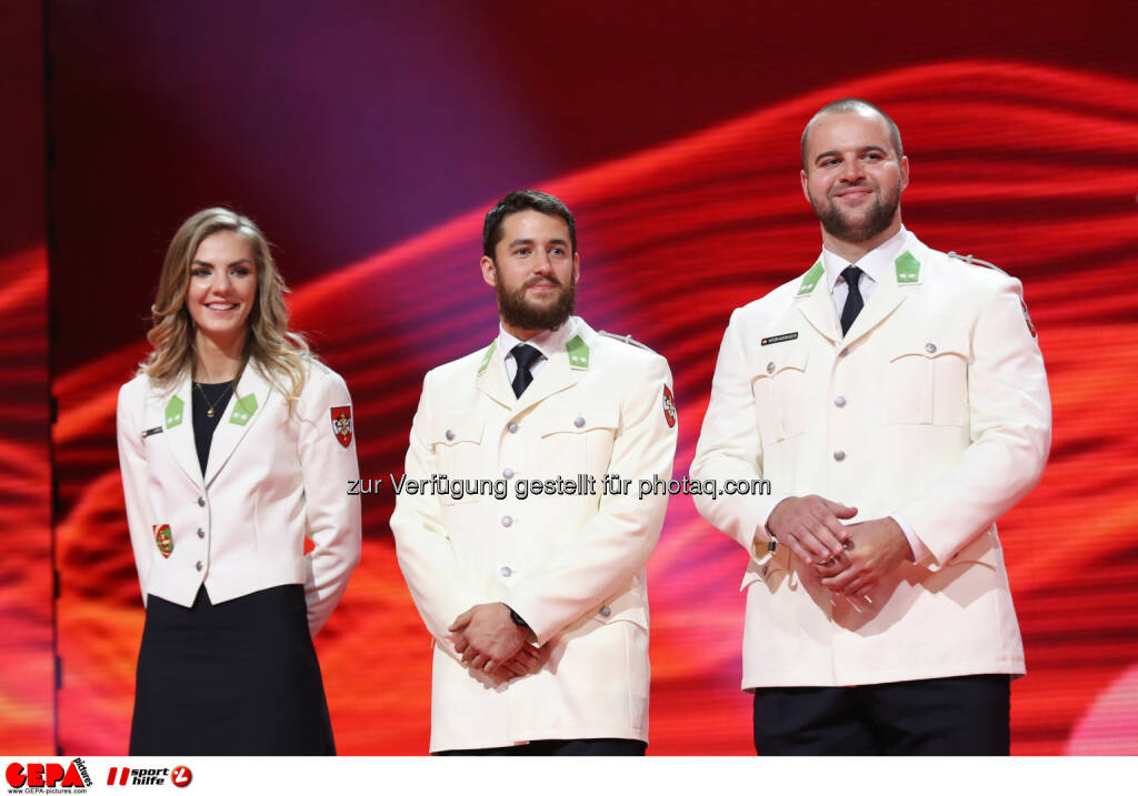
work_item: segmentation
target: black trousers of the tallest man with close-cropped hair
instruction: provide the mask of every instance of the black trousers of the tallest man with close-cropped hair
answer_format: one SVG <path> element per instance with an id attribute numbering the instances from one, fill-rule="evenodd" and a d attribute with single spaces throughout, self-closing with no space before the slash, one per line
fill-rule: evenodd
<path id="1" fill-rule="evenodd" d="M 848 688 L 758 688 L 760 755 L 1006 755 L 1011 678 L 972 674 Z"/>

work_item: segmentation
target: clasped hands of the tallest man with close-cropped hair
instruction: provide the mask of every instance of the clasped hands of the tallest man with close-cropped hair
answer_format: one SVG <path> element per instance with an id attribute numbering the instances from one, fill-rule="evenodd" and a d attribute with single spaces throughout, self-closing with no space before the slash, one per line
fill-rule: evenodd
<path id="1" fill-rule="evenodd" d="M 843 525 L 857 508 L 819 495 L 780 503 L 767 528 L 805 564 L 814 566 L 824 587 L 836 594 L 865 597 L 902 561 L 913 559 L 904 531 L 891 517 Z"/>

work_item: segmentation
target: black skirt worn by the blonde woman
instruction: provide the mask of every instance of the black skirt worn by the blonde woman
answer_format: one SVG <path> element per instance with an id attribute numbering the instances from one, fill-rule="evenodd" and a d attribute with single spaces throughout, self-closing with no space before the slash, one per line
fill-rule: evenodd
<path id="1" fill-rule="evenodd" d="M 333 755 L 300 584 L 183 608 L 150 595 L 132 755 Z"/>

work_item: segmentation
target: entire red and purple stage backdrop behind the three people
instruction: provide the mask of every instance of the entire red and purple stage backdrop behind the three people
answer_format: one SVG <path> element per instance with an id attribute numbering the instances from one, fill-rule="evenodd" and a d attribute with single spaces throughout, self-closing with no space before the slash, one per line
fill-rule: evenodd
<path id="1" fill-rule="evenodd" d="M 295 326 L 348 380 L 362 473 L 386 480 L 423 373 L 495 334 L 483 214 L 561 196 L 580 314 L 671 363 L 679 478 L 731 310 L 817 256 L 801 127 L 857 94 L 900 124 L 909 229 L 1023 280 L 1048 365 L 1050 464 L 999 523 L 1029 669 L 1013 752 L 1138 753 L 1131 6 L 0 5 L 0 752 L 126 749 L 142 606 L 114 405 L 190 213 L 230 204 L 279 244 Z M 316 641 L 346 754 L 427 749 L 391 507 L 364 498 L 363 563 Z M 751 751 L 744 563 L 671 500 L 650 754 Z"/>

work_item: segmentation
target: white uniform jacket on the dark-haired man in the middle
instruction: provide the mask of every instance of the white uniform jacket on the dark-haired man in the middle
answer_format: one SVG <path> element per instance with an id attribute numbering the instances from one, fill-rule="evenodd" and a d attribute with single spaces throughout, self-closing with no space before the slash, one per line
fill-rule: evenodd
<path id="1" fill-rule="evenodd" d="M 406 478 L 490 479 L 509 490 L 396 498 L 399 566 L 436 640 L 432 752 L 648 740 L 644 564 L 668 498 L 638 499 L 637 483 L 671 476 L 671 374 L 662 357 L 569 323 L 576 333 L 521 398 L 497 341 L 423 380 Z M 632 480 L 629 494 L 603 495 L 605 473 Z M 518 497 L 519 482 L 559 475 L 578 486 L 594 476 L 595 495 Z M 494 602 L 527 621 L 547 656 L 536 674 L 497 687 L 459 663 L 447 635 L 459 614 Z"/>

